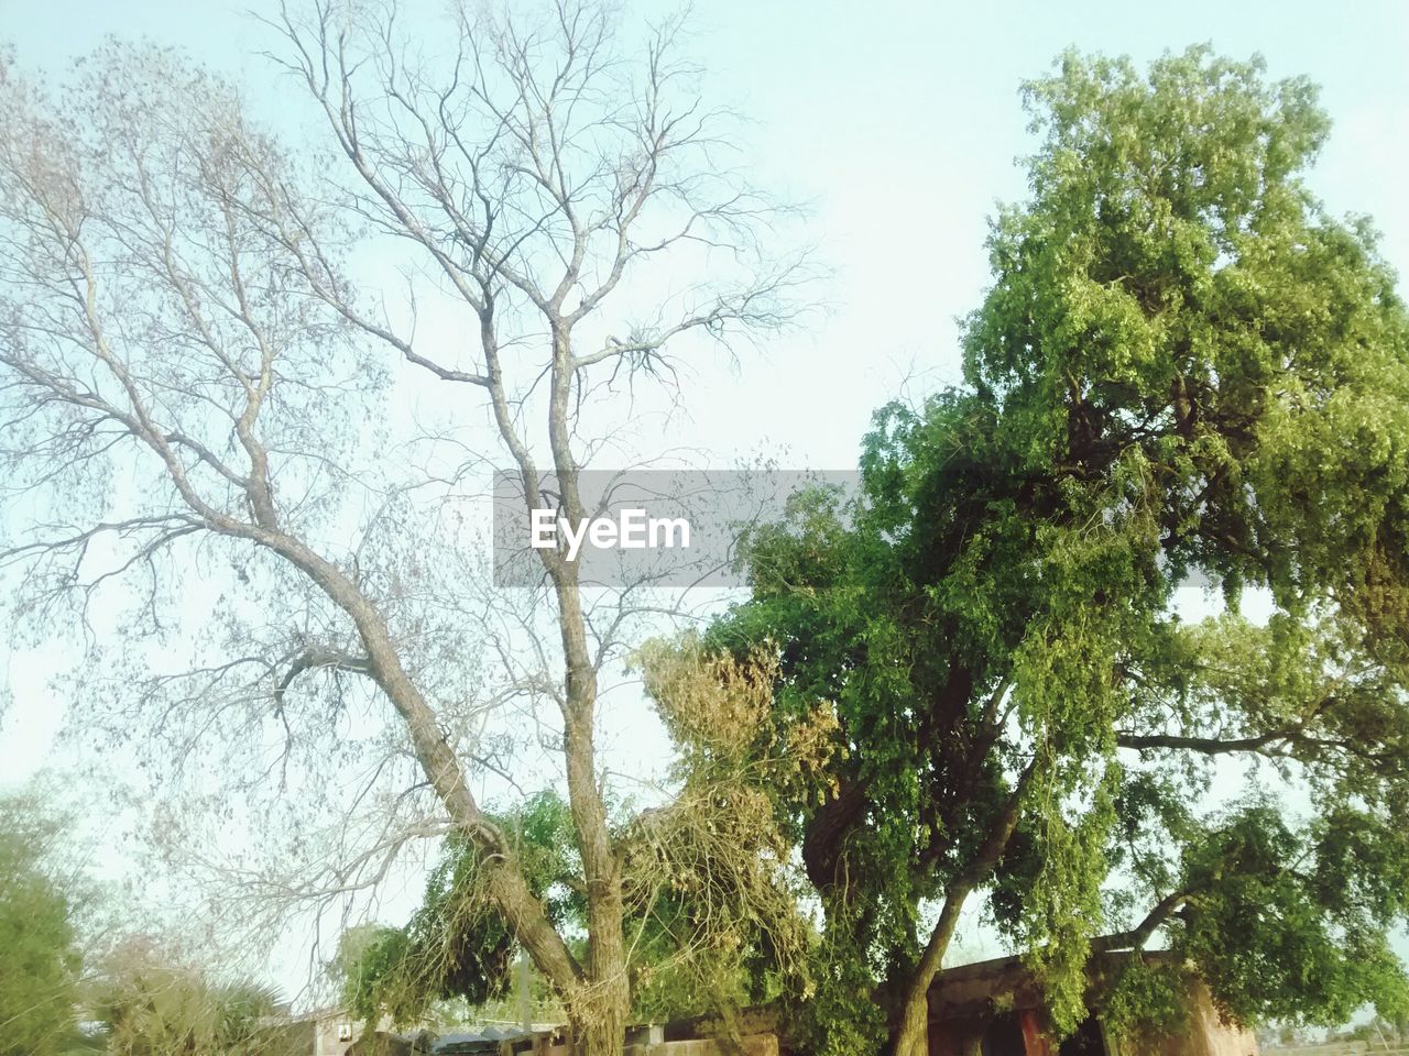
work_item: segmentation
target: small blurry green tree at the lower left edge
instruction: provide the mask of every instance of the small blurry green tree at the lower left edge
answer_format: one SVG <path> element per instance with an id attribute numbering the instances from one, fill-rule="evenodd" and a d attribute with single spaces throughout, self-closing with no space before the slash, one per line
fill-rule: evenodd
<path id="1" fill-rule="evenodd" d="M 0 1053 L 49 1056 L 76 1039 L 80 957 L 61 825 L 32 794 L 0 796 Z"/>

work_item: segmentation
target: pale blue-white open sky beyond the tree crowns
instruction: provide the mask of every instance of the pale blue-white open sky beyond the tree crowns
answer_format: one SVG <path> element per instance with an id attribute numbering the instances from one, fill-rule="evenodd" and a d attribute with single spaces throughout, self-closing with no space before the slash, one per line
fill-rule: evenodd
<path id="1" fill-rule="evenodd" d="M 413 4 L 434 10 L 433 4 Z M 674 4 L 624 3 L 626 18 Z M 280 87 L 255 52 L 266 0 L 0 0 L 0 41 L 51 73 L 107 34 L 186 49 L 248 84 L 278 122 Z M 706 93 L 757 124 L 755 180 L 806 199 L 809 235 L 833 269 L 828 314 L 737 370 L 700 370 L 676 444 L 848 469 L 878 406 L 912 377 L 923 394 L 957 377 L 957 315 L 988 280 L 985 222 L 1020 199 L 1014 158 L 1033 146 L 1017 89 L 1068 45 L 1130 54 L 1212 42 L 1261 52 L 1272 76 L 1309 75 L 1334 130 L 1312 183 L 1333 213 L 1368 213 L 1384 252 L 1409 268 L 1409 4 L 1377 3 L 810 3 L 700 0 L 690 54 Z M 4 656 L 15 701 L 0 717 L 0 784 L 49 755 L 63 703 L 46 672 Z"/>

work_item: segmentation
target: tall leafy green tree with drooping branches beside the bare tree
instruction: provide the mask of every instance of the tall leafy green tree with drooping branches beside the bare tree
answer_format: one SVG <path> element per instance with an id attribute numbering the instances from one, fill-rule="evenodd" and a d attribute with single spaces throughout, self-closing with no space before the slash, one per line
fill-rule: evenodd
<path id="1" fill-rule="evenodd" d="M 834 794 L 778 796 L 826 911 L 820 1052 L 924 1052 L 960 908 L 1085 1014 L 1100 949 L 1189 955 L 1241 1022 L 1405 1007 L 1409 315 L 1303 183 L 1305 80 L 1195 48 L 1024 89 L 1030 199 L 989 237 L 964 383 L 875 417 L 712 629 L 824 703 Z M 1188 622 L 1181 586 L 1220 589 Z M 1272 615 L 1240 615 L 1248 589 Z M 1210 796 L 1246 762 L 1247 788 Z M 1241 773 L 1234 770 L 1233 773 Z M 1309 810 L 1298 810 L 1296 807 Z M 1112 1022 L 1168 1011 L 1130 957 Z M 889 1038 L 889 1042 L 886 1041 Z"/>

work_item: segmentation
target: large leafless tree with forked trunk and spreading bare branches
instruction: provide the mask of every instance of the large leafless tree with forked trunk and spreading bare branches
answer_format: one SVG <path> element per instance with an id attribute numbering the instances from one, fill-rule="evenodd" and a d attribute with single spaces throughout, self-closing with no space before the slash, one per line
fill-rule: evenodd
<path id="1" fill-rule="evenodd" d="M 592 3 L 478 10 L 458 8 L 438 51 L 392 6 L 318 0 L 272 20 L 273 58 L 341 169 L 300 162 L 165 52 L 108 49 L 63 104 L 0 68 L 0 562 L 31 625 L 120 643 L 90 658 L 123 704 L 108 735 L 155 718 L 179 745 L 235 746 L 251 781 L 278 759 L 297 784 L 318 752 L 355 755 L 335 727 L 361 722 L 372 817 L 395 824 L 318 888 L 375 881 L 406 841 L 459 831 L 581 1052 L 610 1053 L 630 1000 L 626 863 L 664 829 L 613 826 L 597 712 L 652 603 L 585 589 L 538 551 L 527 608 L 475 608 L 447 503 L 492 462 L 488 417 L 527 505 L 548 504 L 548 472 L 582 518 L 583 466 L 633 411 L 623 390 L 669 391 L 695 338 L 788 324 L 802 269 L 768 263 L 779 211 L 728 161 L 731 114 L 674 59 L 678 23 L 627 62 Z M 358 282 L 385 280 L 387 258 L 411 279 L 403 307 Z M 434 339 L 416 325 L 427 313 Z M 442 387 L 445 424 L 411 472 L 362 422 L 417 384 Z M 172 625 L 199 612 L 200 635 Z M 199 663 L 169 662 L 183 639 Z M 537 700 L 558 712 L 582 962 L 472 793 L 495 766 L 486 715 Z"/>

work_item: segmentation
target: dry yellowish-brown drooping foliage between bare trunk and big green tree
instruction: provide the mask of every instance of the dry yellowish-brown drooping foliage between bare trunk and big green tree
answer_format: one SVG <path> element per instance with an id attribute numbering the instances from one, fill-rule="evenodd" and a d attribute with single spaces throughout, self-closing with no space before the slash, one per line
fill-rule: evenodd
<path id="1" fill-rule="evenodd" d="M 775 797 L 820 797 L 836 718 L 769 722 L 771 650 L 710 653 L 695 632 L 635 656 L 676 755 L 672 801 L 621 834 L 634 1007 L 647 1018 L 717 1014 L 781 991 L 810 997 L 814 934 L 797 905 L 793 841 Z"/>

